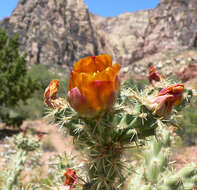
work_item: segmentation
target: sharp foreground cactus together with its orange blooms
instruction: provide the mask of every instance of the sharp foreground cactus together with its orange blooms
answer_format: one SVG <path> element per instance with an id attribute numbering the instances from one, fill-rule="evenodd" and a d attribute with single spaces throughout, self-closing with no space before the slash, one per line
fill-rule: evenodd
<path id="1" fill-rule="evenodd" d="M 168 84 L 150 101 L 153 88 L 143 93 L 123 89 L 115 103 L 120 87 L 119 69 L 117 63 L 112 65 L 109 55 L 83 58 L 71 73 L 68 101 L 57 98 L 57 80 L 51 81 L 44 94 L 50 108 L 48 116 L 67 129 L 88 157 L 84 190 L 120 189 L 125 180 L 125 148 L 155 135 L 158 121 L 170 115 L 184 91 L 181 84 Z"/>

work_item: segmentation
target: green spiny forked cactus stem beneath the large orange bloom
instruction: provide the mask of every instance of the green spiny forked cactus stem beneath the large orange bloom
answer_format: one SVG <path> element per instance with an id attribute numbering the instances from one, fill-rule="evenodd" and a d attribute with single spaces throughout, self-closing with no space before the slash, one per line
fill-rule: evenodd
<path id="1" fill-rule="evenodd" d="M 140 139 L 145 140 L 155 135 L 159 117 L 148 110 L 144 99 L 139 95 L 130 91 L 127 96 L 127 92 L 121 94 L 119 104 L 99 117 L 80 117 L 66 101 L 63 107 L 50 112 L 54 121 L 67 129 L 74 137 L 75 145 L 88 157 L 88 181 L 84 184 L 86 190 L 119 189 L 125 180 L 125 163 L 122 161 L 125 148 L 133 142 L 140 143 Z M 151 178 L 152 182 L 155 181 L 155 175 L 163 171 L 161 166 L 167 165 L 166 157 L 160 152 L 161 146 L 155 141 L 152 147 L 152 150 L 158 151 L 154 154 L 159 156 L 160 162 L 160 167 L 150 168 L 152 176 L 148 178 Z M 157 155 L 158 153 L 160 154 Z M 152 160 L 153 164 L 155 162 L 156 159 Z"/>

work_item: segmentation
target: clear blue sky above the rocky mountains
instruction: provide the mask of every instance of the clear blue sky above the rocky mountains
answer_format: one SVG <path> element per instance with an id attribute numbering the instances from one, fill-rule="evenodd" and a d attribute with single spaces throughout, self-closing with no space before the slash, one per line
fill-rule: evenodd
<path id="1" fill-rule="evenodd" d="M 18 0 L 1 0 L 0 20 L 10 16 L 16 7 Z M 117 16 L 125 12 L 152 9 L 160 0 L 84 0 L 92 13 L 109 17 Z"/>

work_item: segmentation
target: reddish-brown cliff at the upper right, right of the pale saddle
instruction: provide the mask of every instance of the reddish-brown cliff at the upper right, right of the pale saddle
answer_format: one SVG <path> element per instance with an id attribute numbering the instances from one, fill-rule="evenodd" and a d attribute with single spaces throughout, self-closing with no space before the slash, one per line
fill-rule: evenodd
<path id="1" fill-rule="evenodd" d="M 188 47 L 197 47 L 197 1 L 162 0 L 150 11 L 148 26 L 133 51 L 133 60 Z"/>

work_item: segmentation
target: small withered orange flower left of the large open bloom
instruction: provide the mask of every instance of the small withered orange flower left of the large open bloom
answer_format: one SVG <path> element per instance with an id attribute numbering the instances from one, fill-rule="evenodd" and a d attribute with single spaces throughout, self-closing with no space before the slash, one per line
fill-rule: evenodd
<path id="1" fill-rule="evenodd" d="M 54 79 L 49 83 L 49 86 L 44 92 L 44 103 L 50 108 L 61 108 L 64 105 L 63 98 L 57 98 L 59 89 L 59 80 Z"/>

